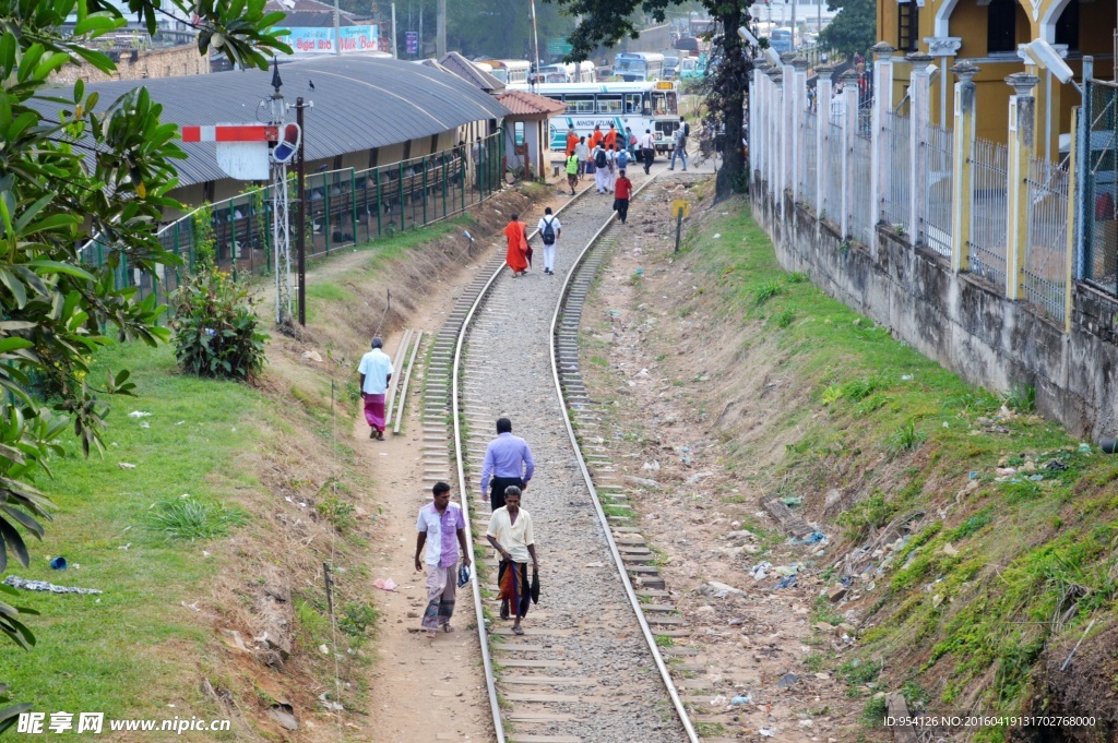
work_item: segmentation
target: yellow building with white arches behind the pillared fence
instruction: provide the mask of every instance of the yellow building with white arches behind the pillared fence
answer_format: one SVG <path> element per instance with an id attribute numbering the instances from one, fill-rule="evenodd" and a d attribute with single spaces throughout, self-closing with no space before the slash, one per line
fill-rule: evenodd
<path id="1" fill-rule="evenodd" d="M 1095 60 L 1093 77 L 1114 79 L 1116 26 L 1111 0 L 878 0 L 878 38 L 896 47 L 898 56 L 923 51 L 941 70 L 964 59 L 982 69 L 975 78 L 982 139 L 1006 141 L 1012 88 L 1005 77 L 1036 74 L 1036 154 L 1050 160 L 1059 159 L 1060 135 L 1069 134 L 1071 108 L 1079 105 L 1080 95 L 1070 83 L 1061 85 L 1043 69 L 1026 67 L 1018 47 L 1044 39 L 1065 55 L 1077 80 L 1084 56 Z M 893 70 L 893 101 L 900 102 L 909 66 L 894 64 Z M 948 72 L 932 85 L 932 123 L 942 125 L 946 117 L 948 128 L 954 84 Z"/>

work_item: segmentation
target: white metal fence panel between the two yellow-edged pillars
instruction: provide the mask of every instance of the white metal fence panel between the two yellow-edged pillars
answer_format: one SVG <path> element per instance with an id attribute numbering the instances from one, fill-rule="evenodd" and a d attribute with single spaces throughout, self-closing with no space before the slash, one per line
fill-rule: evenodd
<path id="1" fill-rule="evenodd" d="M 1008 152 L 1004 144 L 976 139 L 970 163 L 970 272 L 1004 287 Z"/>

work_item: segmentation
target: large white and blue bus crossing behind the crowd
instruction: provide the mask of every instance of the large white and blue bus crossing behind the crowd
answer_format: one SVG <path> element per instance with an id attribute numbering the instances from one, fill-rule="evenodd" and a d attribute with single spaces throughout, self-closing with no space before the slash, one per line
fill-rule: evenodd
<path id="1" fill-rule="evenodd" d="M 510 87 L 528 89 L 527 85 Z M 680 123 L 674 83 L 543 83 L 534 93 L 567 104 L 567 111 L 549 122 L 552 150 L 567 149 L 571 126 L 579 136 L 589 139 L 596 125 L 606 132 L 609 124 L 618 132 L 629 127 L 637 139 L 651 130 L 657 152 L 672 149 L 672 133 Z"/>

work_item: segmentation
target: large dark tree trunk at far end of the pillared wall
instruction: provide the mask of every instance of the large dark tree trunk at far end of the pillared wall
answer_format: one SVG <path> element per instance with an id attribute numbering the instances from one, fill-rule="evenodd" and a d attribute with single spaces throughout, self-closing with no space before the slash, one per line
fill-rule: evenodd
<path id="1" fill-rule="evenodd" d="M 722 111 L 719 114 L 726 126 L 726 141 L 722 166 L 714 182 L 716 201 L 732 196 L 748 183 L 745 156 L 741 152 L 741 120 L 746 88 L 749 85 L 749 65 L 742 54 L 741 38 L 738 36 L 745 12 L 742 4 L 737 2 L 721 3 L 719 10 L 721 10 L 719 20 L 722 26 L 723 55 L 716 86 L 721 92 Z"/>

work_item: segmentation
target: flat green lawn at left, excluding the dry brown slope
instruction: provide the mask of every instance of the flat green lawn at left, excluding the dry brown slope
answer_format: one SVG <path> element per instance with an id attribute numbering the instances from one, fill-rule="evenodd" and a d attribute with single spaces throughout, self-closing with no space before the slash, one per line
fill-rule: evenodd
<path id="1" fill-rule="evenodd" d="M 15 699 L 39 712 L 173 716 L 168 704 L 198 702 L 197 678 L 181 675 L 181 656 L 198 654 L 208 632 L 181 602 L 208 593 L 215 569 L 202 552 L 209 543 L 164 539 L 149 525 L 158 511 L 152 505 L 184 494 L 219 503 L 234 488 L 254 485 L 237 456 L 258 439 L 252 421 L 263 409 L 259 394 L 243 384 L 180 377 L 169 346 L 105 350 L 93 379 L 120 368 L 133 371 L 138 397 L 112 400 L 104 455 L 85 459 L 70 440 L 67 455 L 51 463 L 54 478 L 39 485 L 57 504 L 56 518 L 44 542 L 30 545 L 31 568 L 9 565 L 21 578 L 105 590 L 20 591 L 17 603 L 41 612 L 29 622 L 38 644 L 30 652 L 0 644 L 0 679 Z M 134 410 L 151 416 L 129 417 Z M 50 555 L 64 555 L 70 568 L 51 570 Z"/>

